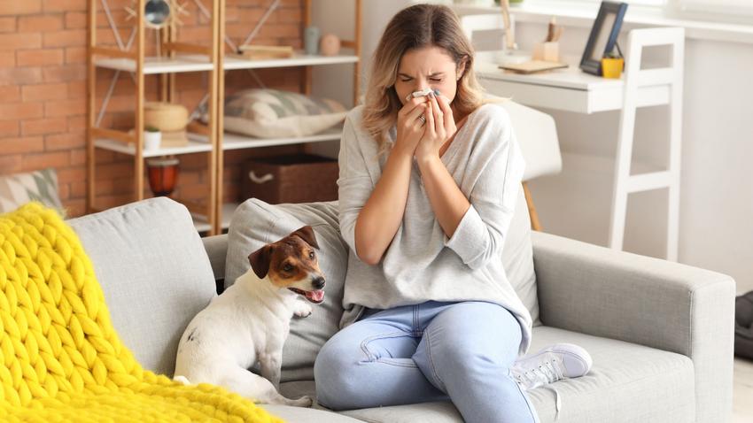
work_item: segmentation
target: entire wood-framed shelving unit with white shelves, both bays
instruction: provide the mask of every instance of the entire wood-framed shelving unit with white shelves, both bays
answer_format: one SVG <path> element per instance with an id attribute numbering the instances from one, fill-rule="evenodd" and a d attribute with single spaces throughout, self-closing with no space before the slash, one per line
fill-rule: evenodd
<path id="1" fill-rule="evenodd" d="M 195 226 L 199 232 L 208 235 L 221 233 L 222 229 L 229 227 L 229 219 L 237 207 L 236 203 L 223 204 L 222 202 L 222 173 L 224 157 L 222 152 L 226 150 L 241 150 L 252 148 L 272 147 L 279 145 L 301 144 L 309 142 L 336 141 L 340 137 L 341 129 L 332 128 L 322 134 L 302 136 L 296 138 L 253 138 L 245 135 L 225 134 L 223 130 L 223 103 L 226 71 L 239 69 L 263 69 L 282 67 L 304 67 L 304 78 L 301 81 L 301 91 L 311 94 L 312 72 L 311 67 L 317 65 L 341 65 L 353 64 L 353 104 L 357 104 L 359 96 L 358 75 L 361 73 L 361 0 L 355 2 L 355 31 L 353 40 L 341 41 L 341 47 L 352 49 L 353 54 L 338 54 L 336 56 L 307 55 L 302 51 L 296 51 L 291 58 L 276 58 L 264 60 L 249 60 L 239 58 L 236 55 L 224 54 L 225 40 L 225 0 L 213 1 L 211 25 L 213 27 L 213 41 L 210 48 L 190 45 L 180 42 L 172 42 L 175 34 L 167 33 L 167 42 L 163 43 L 163 50 L 167 51 L 165 57 L 144 57 L 144 2 L 139 0 L 137 4 L 136 40 L 135 52 L 116 49 L 103 49 L 97 47 L 95 33 L 89 31 L 89 131 L 88 131 L 88 195 L 87 210 L 93 212 L 95 207 L 94 181 L 96 174 L 95 149 L 111 150 L 134 158 L 135 173 L 135 199 L 143 198 L 144 192 L 144 158 L 161 157 L 167 155 L 182 155 L 190 153 L 207 153 L 210 173 L 210 189 L 207 198 L 206 210 L 201 210 L 197 204 L 186 202 Z M 89 26 L 96 24 L 97 1 L 89 0 Z M 312 0 L 304 3 L 304 27 L 311 25 Z M 199 54 L 204 53 L 204 54 Z M 103 58 L 104 57 L 104 58 Z M 170 101 L 175 98 L 175 73 L 187 72 L 210 72 L 211 87 L 209 96 L 209 126 L 191 124 L 189 130 L 189 143 L 182 147 L 161 148 L 159 150 L 144 151 L 142 149 L 143 134 L 136 131 L 131 135 L 113 129 L 104 129 L 95 125 L 95 98 L 96 68 L 112 69 L 116 72 L 134 73 L 136 80 L 136 127 L 142 127 L 144 105 L 144 75 L 160 74 L 170 75 L 166 78 L 167 88 L 163 88 L 160 100 Z"/>

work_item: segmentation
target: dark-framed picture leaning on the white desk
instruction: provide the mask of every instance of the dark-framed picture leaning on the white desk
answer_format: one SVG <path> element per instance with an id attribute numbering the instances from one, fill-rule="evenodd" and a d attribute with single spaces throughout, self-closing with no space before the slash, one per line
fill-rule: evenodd
<path id="1" fill-rule="evenodd" d="M 591 28 L 591 35 L 588 36 L 583 58 L 580 59 L 583 72 L 602 75 L 602 58 L 615 48 L 625 11 L 625 3 L 602 2 L 594 27 Z"/>

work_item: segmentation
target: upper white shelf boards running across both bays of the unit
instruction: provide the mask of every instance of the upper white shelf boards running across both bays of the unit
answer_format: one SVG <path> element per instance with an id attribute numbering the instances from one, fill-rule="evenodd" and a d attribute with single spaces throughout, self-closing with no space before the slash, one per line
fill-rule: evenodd
<path id="1" fill-rule="evenodd" d="M 321 56 L 295 53 L 292 58 L 274 58 L 267 60 L 249 60 L 237 56 L 226 56 L 222 68 L 262 69 L 269 67 L 294 67 L 315 65 L 338 65 L 358 62 L 358 56 L 338 55 Z M 136 60 L 131 58 L 101 58 L 95 61 L 97 67 L 116 71 L 136 72 Z M 204 72 L 212 70 L 212 62 L 202 55 L 181 55 L 176 58 L 144 58 L 144 74 Z"/>

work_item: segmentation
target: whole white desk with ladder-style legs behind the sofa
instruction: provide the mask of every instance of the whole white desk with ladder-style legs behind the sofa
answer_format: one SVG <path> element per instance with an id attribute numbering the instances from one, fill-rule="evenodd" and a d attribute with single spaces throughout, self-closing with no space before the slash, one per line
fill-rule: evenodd
<path id="1" fill-rule="evenodd" d="M 644 47 L 671 46 L 671 65 L 641 69 Z M 629 194 L 668 188 L 666 258 L 677 261 L 679 238 L 679 165 L 682 120 L 682 81 L 685 33 L 682 28 L 633 29 L 628 35 L 625 75 L 608 80 L 582 72 L 574 61 L 570 67 L 546 73 L 508 73 L 490 61 L 478 60 L 477 78 L 496 96 L 511 97 L 520 104 L 591 114 L 620 111 L 617 158 L 609 215 L 609 247 L 622 250 Z M 631 174 L 635 111 L 640 107 L 667 104 L 671 111 L 670 159 L 667 170 Z"/>

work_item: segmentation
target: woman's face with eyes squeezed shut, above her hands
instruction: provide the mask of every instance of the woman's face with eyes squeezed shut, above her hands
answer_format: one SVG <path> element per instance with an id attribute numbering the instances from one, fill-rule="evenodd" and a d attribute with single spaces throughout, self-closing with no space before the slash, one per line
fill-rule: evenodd
<path id="1" fill-rule="evenodd" d="M 457 92 L 457 81 L 462 75 L 453 58 L 439 47 L 424 47 L 408 50 L 400 58 L 395 91 L 400 103 L 406 103 L 408 94 L 423 88 L 438 89 L 439 93 L 453 101 Z"/>

